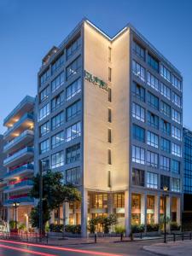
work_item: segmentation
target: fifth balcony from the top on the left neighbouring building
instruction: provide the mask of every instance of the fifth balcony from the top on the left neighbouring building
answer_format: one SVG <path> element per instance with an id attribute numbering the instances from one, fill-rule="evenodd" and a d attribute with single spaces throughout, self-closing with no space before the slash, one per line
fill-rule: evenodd
<path id="1" fill-rule="evenodd" d="M 28 164 L 28 165 L 20 166 L 15 170 L 6 173 L 3 179 L 9 180 L 16 177 L 24 177 L 24 176 L 26 177 L 26 176 L 32 175 L 33 172 L 34 172 L 34 166 L 32 164 Z"/>

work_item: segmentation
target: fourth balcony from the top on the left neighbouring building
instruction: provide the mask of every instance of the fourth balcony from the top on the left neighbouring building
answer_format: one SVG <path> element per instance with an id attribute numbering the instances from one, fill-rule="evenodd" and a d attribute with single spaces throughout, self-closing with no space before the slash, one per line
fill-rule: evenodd
<path id="1" fill-rule="evenodd" d="M 34 155 L 34 149 L 32 147 L 22 148 L 15 154 L 10 155 L 8 158 L 3 160 L 3 166 L 17 166 L 22 162 L 26 162 Z"/>

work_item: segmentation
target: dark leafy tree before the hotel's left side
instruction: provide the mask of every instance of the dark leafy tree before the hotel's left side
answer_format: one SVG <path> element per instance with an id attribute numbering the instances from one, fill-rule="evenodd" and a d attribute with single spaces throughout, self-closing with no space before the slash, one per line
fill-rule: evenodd
<path id="1" fill-rule="evenodd" d="M 39 173 L 33 177 L 30 196 L 39 199 Z M 65 202 L 80 201 L 79 190 L 73 184 L 64 184 L 61 172 L 48 171 L 43 175 L 43 228 L 50 219 L 51 211 L 58 209 Z M 39 204 L 31 212 L 33 227 L 39 227 Z"/>

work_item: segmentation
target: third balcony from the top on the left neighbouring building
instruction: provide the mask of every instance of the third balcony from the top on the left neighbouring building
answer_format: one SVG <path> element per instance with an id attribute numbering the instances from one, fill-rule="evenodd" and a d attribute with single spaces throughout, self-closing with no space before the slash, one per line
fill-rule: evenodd
<path id="1" fill-rule="evenodd" d="M 15 137 L 12 141 L 3 147 L 3 152 L 9 154 L 12 151 L 18 150 L 22 145 L 27 145 L 32 142 L 34 138 L 34 131 L 26 130 L 23 131 L 20 136 Z"/>

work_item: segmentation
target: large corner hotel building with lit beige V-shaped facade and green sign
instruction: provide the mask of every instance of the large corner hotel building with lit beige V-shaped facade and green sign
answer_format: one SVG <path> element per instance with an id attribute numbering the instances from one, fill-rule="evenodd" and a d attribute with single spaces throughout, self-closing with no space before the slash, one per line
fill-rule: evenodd
<path id="1" fill-rule="evenodd" d="M 64 216 L 83 236 L 87 220 L 112 212 L 127 234 L 159 223 L 165 186 L 167 215 L 180 223 L 182 80 L 129 25 L 110 38 L 83 20 L 44 57 L 35 166 L 78 186 L 81 206 L 66 205 Z"/>

